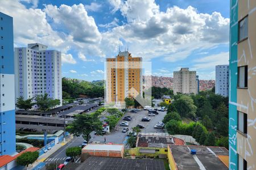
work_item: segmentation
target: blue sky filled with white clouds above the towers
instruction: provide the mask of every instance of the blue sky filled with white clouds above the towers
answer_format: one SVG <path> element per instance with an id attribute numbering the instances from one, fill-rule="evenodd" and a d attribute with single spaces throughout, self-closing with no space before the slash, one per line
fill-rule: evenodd
<path id="1" fill-rule="evenodd" d="M 105 57 L 129 47 L 152 62 L 152 75 L 180 67 L 214 79 L 215 65 L 228 64 L 228 0 L 1 1 L 14 18 L 14 45 L 40 42 L 60 50 L 63 76 L 104 78 Z"/>

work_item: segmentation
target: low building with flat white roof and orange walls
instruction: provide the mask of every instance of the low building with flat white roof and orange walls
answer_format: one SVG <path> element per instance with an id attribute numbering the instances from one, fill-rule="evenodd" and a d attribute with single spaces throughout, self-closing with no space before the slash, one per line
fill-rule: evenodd
<path id="1" fill-rule="evenodd" d="M 123 158 L 124 146 L 122 144 L 88 144 L 82 148 L 82 154 L 93 156 L 120 157 Z"/>

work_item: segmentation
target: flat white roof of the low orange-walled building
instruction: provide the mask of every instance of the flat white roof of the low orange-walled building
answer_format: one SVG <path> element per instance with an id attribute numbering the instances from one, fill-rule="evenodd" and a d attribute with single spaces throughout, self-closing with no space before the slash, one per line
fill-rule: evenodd
<path id="1" fill-rule="evenodd" d="M 101 150 L 101 151 L 122 151 L 123 145 L 107 145 L 107 144 L 88 144 L 82 150 Z"/>

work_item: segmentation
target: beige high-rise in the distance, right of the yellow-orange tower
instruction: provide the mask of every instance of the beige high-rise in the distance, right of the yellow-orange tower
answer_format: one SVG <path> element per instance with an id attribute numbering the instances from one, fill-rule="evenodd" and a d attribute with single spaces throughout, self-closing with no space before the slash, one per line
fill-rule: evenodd
<path id="1" fill-rule="evenodd" d="M 196 71 L 181 68 L 174 71 L 174 94 L 197 94 Z"/>

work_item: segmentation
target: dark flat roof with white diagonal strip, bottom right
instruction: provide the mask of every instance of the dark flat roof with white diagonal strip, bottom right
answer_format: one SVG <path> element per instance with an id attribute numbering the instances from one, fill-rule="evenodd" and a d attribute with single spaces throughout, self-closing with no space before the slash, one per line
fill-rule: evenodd
<path id="1" fill-rule="evenodd" d="M 229 152 L 225 147 L 170 145 L 176 167 L 183 169 L 228 169 Z M 191 154 L 196 150 L 196 155 Z M 200 168 L 201 167 L 201 168 Z"/>

